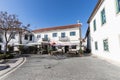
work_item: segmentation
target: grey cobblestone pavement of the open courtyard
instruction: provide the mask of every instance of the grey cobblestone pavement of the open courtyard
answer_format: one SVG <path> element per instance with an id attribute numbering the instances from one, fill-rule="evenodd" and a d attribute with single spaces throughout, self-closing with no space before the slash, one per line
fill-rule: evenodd
<path id="1" fill-rule="evenodd" d="M 120 80 L 120 67 L 91 56 L 32 55 L 3 80 Z"/>

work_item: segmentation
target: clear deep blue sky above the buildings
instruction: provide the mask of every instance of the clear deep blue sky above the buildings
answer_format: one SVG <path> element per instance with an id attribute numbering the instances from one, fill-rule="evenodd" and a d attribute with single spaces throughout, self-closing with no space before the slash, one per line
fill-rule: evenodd
<path id="1" fill-rule="evenodd" d="M 16 14 L 31 29 L 76 24 L 80 20 L 82 37 L 87 20 L 98 0 L 0 0 L 0 11 Z"/>

